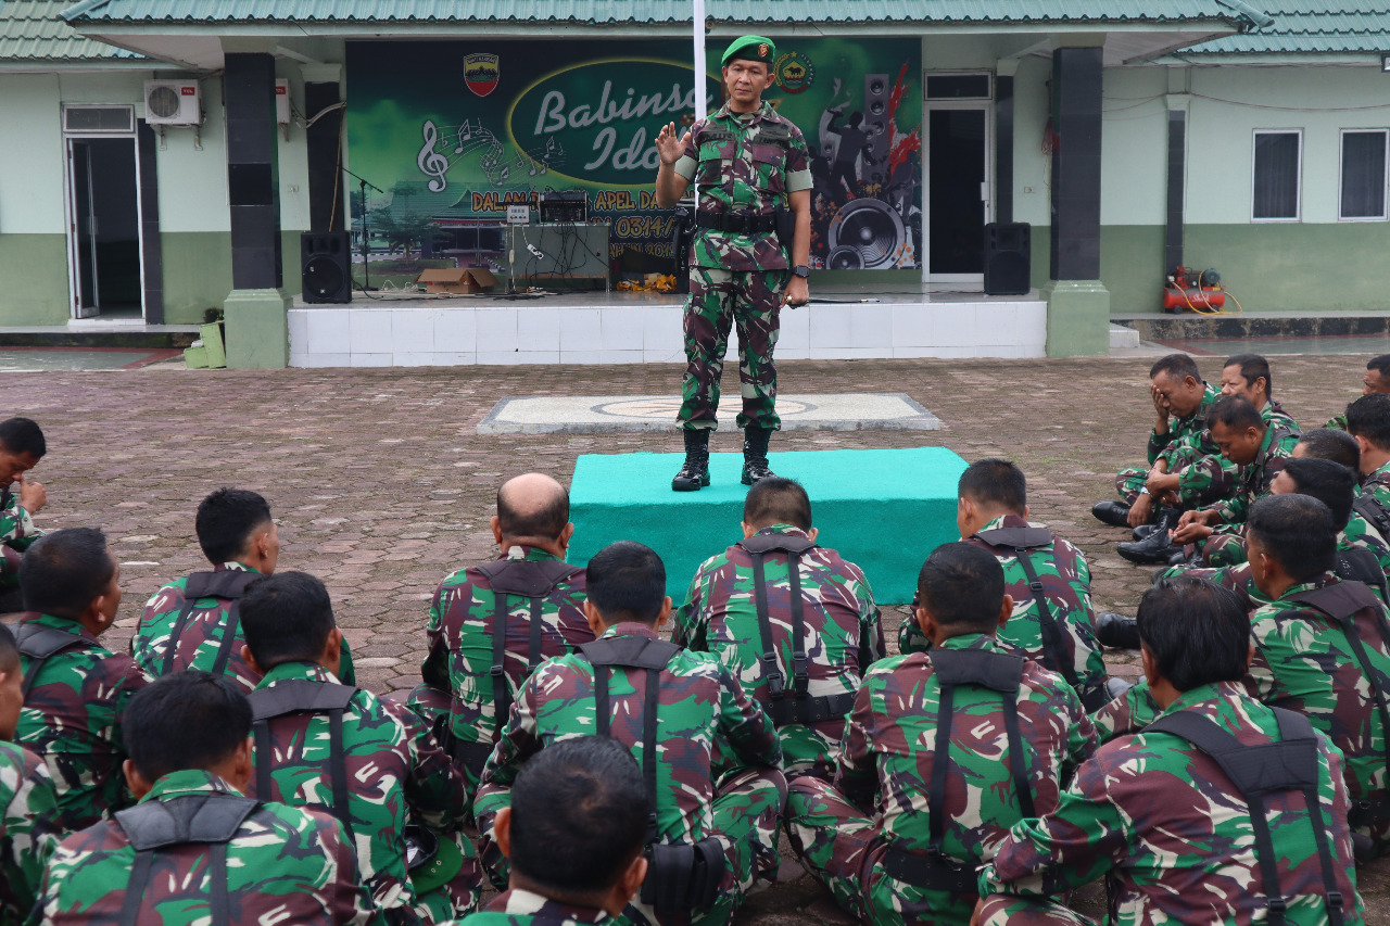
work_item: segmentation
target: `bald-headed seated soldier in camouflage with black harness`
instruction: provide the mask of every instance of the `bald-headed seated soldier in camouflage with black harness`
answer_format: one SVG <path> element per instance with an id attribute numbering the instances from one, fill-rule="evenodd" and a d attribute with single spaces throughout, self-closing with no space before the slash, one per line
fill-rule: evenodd
<path id="1" fill-rule="evenodd" d="M 541 473 L 507 480 L 492 516 L 500 558 L 450 574 L 430 605 L 424 684 L 410 706 L 463 769 L 468 794 L 521 683 L 542 660 L 594 640 L 584 567 L 564 562 L 571 534 L 563 485 Z"/>

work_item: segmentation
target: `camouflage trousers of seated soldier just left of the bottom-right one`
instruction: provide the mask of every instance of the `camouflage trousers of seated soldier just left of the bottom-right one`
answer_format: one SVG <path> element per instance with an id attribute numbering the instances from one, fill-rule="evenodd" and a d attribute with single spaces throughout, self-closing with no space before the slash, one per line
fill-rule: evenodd
<path id="1" fill-rule="evenodd" d="M 840 907 L 866 923 L 967 926 L 976 894 L 917 887 L 884 870 L 878 823 L 828 781 L 801 777 L 787 797 L 787 836 L 796 858 Z"/>

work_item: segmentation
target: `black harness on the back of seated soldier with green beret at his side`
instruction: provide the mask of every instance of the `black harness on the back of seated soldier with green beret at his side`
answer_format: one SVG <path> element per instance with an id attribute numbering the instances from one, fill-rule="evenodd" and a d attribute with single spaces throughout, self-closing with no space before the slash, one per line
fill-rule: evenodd
<path id="1" fill-rule="evenodd" d="M 256 794 L 270 799 L 274 794 L 271 769 L 270 722 L 291 713 L 328 715 L 328 773 L 334 791 L 332 815 L 343 825 L 356 844 L 349 812 L 348 761 L 343 755 L 343 712 L 357 688 L 307 679 L 286 679 L 270 688 L 257 688 L 246 699 L 252 705 L 252 729 L 256 734 Z"/>

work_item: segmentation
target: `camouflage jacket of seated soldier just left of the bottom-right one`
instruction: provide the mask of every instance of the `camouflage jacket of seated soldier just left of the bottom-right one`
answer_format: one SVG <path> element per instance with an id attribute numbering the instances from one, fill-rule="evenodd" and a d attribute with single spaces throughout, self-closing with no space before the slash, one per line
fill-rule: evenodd
<path id="1" fill-rule="evenodd" d="M 992 637 L 952 637 L 942 649 L 1009 652 Z M 855 699 L 835 770 L 835 787 L 872 812 L 883 838 L 926 852 L 929 790 L 935 762 L 941 685 L 926 653 L 876 663 Z M 1026 773 L 1037 813 L 1056 806 L 1063 776 L 1095 749 L 1095 730 L 1062 679 L 1023 663 L 1017 694 L 1019 740 L 1027 744 Z M 951 765 L 942 851 L 988 859 L 1009 826 L 1023 818 L 1006 759 L 1009 741 L 1002 695 L 977 685 L 952 694 Z"/>

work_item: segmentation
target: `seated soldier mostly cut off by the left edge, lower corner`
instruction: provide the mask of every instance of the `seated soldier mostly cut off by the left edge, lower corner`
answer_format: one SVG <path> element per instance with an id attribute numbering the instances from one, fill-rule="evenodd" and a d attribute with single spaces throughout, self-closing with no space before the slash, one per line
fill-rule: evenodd
<path id="1" fill-rule="evenodd" d="M 14 634 L 0 624 L 0 923 L 24 922 L 38 897 L 58 791 L 43 761 L 14 742 L 24 683 Z"/>

